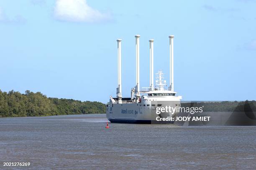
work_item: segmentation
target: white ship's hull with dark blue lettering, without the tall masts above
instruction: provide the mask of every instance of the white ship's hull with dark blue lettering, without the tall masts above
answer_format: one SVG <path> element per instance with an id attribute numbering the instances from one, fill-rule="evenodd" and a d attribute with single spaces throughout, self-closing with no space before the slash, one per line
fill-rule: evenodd
<path id="1" fill-rule="evenodd" d="M 156 122 L 156 117 L 174 117 L 176 115 L 176 112 L 174 114 L 161 112 L 158 115 L 156 107 L 180 106 L 179 96 L 142 96 L 141 98 L 141 102 L 138 103 L 120 104 L 110 101 L 106 110 L 108 120 L 120 123 L 153 123 Z"/>

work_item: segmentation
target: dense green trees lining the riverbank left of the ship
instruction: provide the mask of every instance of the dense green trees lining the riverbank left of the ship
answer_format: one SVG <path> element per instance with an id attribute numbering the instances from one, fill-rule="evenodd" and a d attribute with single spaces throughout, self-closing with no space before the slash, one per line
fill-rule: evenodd
<path id="1" fill-rule="evenodd" d="M 48 98 L 41 92 L 25 94 L 0 90 L 0 117 L 51 116 L 105 113 L 101 102 L 81 102 L 72 99 Z"/>

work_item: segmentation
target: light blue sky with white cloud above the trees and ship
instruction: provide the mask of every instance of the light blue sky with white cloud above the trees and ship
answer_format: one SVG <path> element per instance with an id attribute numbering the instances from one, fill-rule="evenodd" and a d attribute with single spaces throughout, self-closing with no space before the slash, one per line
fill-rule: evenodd
<path id="1" fill-rule="evenodd" d="M 123 97 L 135 86 L 140 34 L 141 87 L 154 72 L 169 82 L 174 35 L 174 90 L 183 100 L 256 100 L 256 1 L 1 0 L 0 89 L 108 102 L 117 87 L 122 41 Z"/>

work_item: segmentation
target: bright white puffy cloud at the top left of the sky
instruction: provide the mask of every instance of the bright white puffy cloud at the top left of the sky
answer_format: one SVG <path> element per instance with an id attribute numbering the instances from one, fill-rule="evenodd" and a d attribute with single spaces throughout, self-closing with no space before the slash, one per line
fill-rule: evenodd
<path id="1" fill-rule="evenodd" d="M 87 5 L 86 0 L 56 0 L 54 16 L 57 20 L 71 22 L 99 22 L 110 20 L 110 14 L 103 14 Z"/>

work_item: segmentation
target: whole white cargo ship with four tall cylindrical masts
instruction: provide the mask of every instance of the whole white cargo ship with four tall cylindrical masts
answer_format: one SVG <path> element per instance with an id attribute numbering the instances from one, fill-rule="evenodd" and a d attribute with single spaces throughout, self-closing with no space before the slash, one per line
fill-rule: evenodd
<path id="1" fill-rule="evenodd" d="M 124 123 L 152 123 L 156 117 L 174 117 L 176 113 L 161 112 L 156 114 L 157 107 L 179 107 L 181 96 L 174 92 L 174 72 L 173 72 L 173 39 L 169 36 L 170 53 L 170 83 L 168 90 L 164 89 L 166 81 L 164 73 L 160 70 L 156 73 L 156 87 L 154 87 L 154 40 L 149 40 L 150 47 L 150 83 L 147 90 L 140 90 L 140 35 L 136 38 L 136 85 L 131 89 L 131 97 L 122 96 L 121 85 L 121 39 L 118 39 L 118 87 L 116 97 L 110 96 L 107 103 L 106 113 L 110 122 Z"/>

